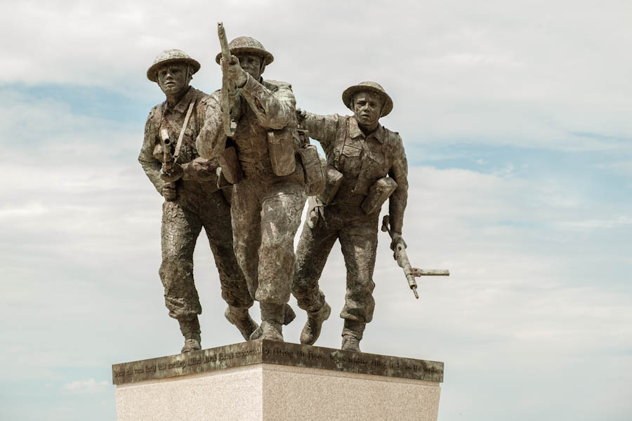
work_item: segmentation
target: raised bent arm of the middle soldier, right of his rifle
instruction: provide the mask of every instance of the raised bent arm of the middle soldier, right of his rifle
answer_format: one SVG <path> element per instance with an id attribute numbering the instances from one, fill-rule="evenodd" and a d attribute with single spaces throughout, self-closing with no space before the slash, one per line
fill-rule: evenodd
<path id="1" fill-rule="evenodd" d="M 296 99 L 289 83 L 279 83 L 278 89 L 273 92 L 250 74 L 246 74 L 246 83 L 239 88 L 239 92 L 248 102 L 261 126 L 279 130 L 296 124 Z"/>

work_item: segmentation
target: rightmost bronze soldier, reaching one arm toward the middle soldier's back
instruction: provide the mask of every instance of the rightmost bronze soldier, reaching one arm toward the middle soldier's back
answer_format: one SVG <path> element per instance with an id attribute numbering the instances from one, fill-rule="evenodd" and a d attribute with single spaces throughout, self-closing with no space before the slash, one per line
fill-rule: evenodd
<path id="1" fill-rule="evenodd" d="M 317 198 L 310 197 L 308 220 L 296 250 L 292 293 L 308 312 L 301 343 L 312 345 L 331 312 L 318 279 L 338 239 L 347 269 L 342 349 L 359 352 L 375 307 L 373 270 L 380 208 L 390 195 L 393 248 L 402 239 L 408 166 L 400 135 L 378 123 L 393 109 L 386 91 L 367 81 L 347 88 L 342 98 L 353 116 L 297 111 L 301 127 L 320 142 L 327 156 L 327 187 Z"/>

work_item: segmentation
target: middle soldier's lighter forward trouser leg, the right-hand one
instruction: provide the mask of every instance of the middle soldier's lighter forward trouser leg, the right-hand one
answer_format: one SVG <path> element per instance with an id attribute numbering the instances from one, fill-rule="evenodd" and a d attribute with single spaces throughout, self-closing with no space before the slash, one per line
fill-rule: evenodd
<path id="1" fill-rule="evenodd" d="M 261 208 L 261 246 L 255 300 L 284 305 L 294 274 L 294 236 L 301 224 L 305 187 L 298 183 L 272 185 Z"/>

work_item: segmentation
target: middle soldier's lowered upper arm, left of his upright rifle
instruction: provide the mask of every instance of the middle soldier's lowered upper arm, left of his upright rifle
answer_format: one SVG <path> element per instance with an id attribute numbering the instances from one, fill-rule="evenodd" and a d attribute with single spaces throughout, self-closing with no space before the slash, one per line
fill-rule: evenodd
<path id="1" fill-rule="evenodd" d="M 205 99 L 206 107 L 201 110 L 202 128 L 195 140 L 199 156 L 205 159 L 215 158 L 226 147 L 226 135 L 223 131 L 223 113 L 220 107 L 219 91 Z"/>

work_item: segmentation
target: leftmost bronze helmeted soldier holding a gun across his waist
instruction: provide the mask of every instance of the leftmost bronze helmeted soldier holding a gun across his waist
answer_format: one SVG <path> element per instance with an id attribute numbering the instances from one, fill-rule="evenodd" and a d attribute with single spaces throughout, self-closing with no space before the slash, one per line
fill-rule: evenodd
<path id="1" fill-rule="evenodd" d="M 202 307 L 193 282 L 193 249 L 202 227 L 218 268 L 222 298 L 228 303 L 226 318 L 246 340 L 258 328 L 248 313 L 253 300 L 233 252 L 230 203 L 217 187 L 218 163 L 200 158 L 195 147 L 210 106 L 208 95 L 189 86 L 199 67 L 183 51 L 167 50 L 147 70 L 147 79 L 158 83 L 166 101 L 150 111 L 138 156 L 165 199 L 159 274 L 169 316 L 178 319 L 185 337 L 182 352 L 201 349 L 197 316 Z M 163 162 L 165 152 L 174 160 L 169 169 Z"/>

